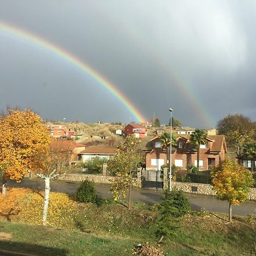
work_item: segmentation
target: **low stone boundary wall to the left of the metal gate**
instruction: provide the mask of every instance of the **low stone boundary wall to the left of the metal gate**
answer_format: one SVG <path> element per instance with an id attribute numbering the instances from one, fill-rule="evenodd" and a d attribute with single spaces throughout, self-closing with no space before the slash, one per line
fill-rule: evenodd
<path id="1" fill-rule="evenodd" d="M 89 180 L 94 183 L 102 183 L 102 184 L 112 184 L 113 180 L 116 177 L 113 176 L 103 176 L 103 175 L 93 175 L 93 174 L 65 174 L 60 180 L 68 180 L 68 181 L 83 181 Z M 138 187 L 141 186 L 141 179 L 137 179 L 136 184 Z"/>

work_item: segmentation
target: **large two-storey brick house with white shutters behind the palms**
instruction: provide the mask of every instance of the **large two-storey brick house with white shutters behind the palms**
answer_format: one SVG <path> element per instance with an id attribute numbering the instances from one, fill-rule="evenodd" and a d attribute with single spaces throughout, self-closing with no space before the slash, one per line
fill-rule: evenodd
<path id="1" fill-rule="evenodd" d="M 189 141 L 189 135 L 176 138 L 176 147 L 172 147 L 172 164 L 180 168 L 186 168 L 188 164 L 197 166 L 197 151 Z M 146 169 L 160 170 L 167 163 L 167 152 L 163 150 L 160 137 L 152 138 L 147 143 Z M 226 154 L 226 142 L 224 135 L 210 135 L 207 143 L 200 145 L 199 170 L 208 170 L 209 166 L 217 166 L 224 160 Z"/>

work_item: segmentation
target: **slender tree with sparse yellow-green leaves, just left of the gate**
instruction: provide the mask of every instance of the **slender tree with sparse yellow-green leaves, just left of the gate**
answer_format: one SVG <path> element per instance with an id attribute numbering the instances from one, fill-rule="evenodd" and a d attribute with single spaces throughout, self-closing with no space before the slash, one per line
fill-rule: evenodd
<path id="1" fill-rule="evenodd" d="M 135 185 L 133 171 L 137 171 L 137 167 L 143 161 L 142 155 L 138 152 L 139 143 L 139 139 L 134 134 L 129 134 L 108 163 L 108 170 L 116 175 L 110 188 L 114 200 L 118 200 L 121 194 L 125 197 L 129 191 L 129 209 L 131 209 L 131 189 Z"/>

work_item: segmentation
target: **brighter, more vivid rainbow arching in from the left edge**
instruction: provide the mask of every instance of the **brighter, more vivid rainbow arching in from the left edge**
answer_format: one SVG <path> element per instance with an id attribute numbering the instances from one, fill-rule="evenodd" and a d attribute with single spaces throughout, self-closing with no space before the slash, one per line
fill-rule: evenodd
<path id="1" fill-rule="evenodd" d="M 0 32 L 14 36 L 15 38 L 21 38 L 27 40 L 28 42 L 32 42 L 36 46 L 45 48 L 55 55 L 60 56 L 62 59 L 68 61 L 72 65 L 75 65 L 86 74 L 92 76 L 101 86 L 109 90 L 109 92 L 112 93 L 113 96 L 125 106 L 125 108 L 133 115 L 134 118 L 137 119 L 138 122 L 143 122 L 146 120 L 146 118 L 143 117 L 143 115 L 135 108 L 135 106 L 131 104 L 131 102 L 127 100 L 127 98 L 121 92 L 119 92 L 119 90 L 116 88 L 117 86 L 114 86 L 104 76 L 102 76 L 100 73 L 89 67 L 89 65 L 84 61 L 81 61 L 78 57 L 72 55 L 65 49 L 60 48 L 59 46 L 56 46 L 55 44 L 52 44 L 47 40 L 40 38 L 39 36 L 31 34 L 28 31 L 11 26 L 10 24 L 3 23 L 1 21 Z"/>

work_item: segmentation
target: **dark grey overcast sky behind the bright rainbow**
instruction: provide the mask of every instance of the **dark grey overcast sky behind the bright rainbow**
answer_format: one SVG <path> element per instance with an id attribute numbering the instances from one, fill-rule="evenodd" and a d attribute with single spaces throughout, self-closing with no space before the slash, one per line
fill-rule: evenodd
<path id="1" fill-rule="evenodd" d="M 44 119 L 129 122 L 107 89 L 47 49 L 1 30 L 39 36 L 79 57 L 148 120 L 214 127 L 256 117 L 256 1 L 0 0 L 0 109 Z"/>

